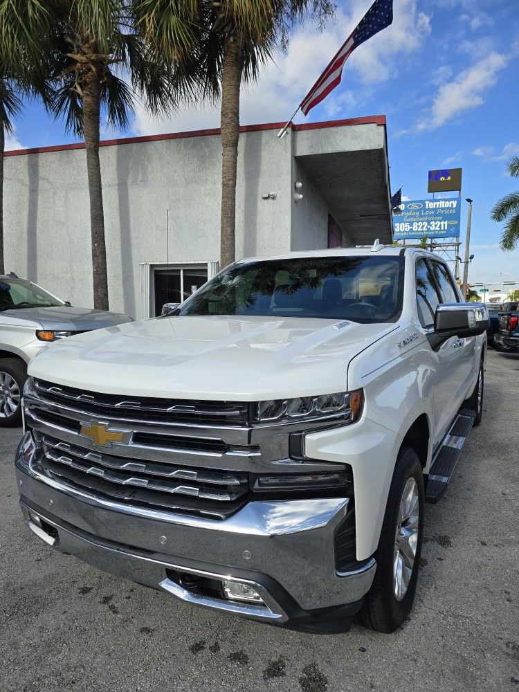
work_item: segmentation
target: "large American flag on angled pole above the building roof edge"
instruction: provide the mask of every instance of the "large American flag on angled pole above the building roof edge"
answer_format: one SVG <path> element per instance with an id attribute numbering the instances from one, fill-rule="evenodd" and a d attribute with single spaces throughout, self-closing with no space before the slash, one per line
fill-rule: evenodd
<path id="1" fill-rule="evenodd" d="M 375 0 L 364 17 L 354 29 L 353 33 L 347 37 L 345 43 L 339 48 L 338 52 L 331 60 L 327 69 L 322 73 L 311 90 L 304 97 L 300 108 L 306 116 L 309 111 L 320 103 L 330 91 L 333 91 L 343 75 L 343 67 L 349 55 L 353 53 L 357 46 L 363 44 L 367 39 L 379 33 L 386 26 L 390 26 L 393 21 L 393 0 Z"/>

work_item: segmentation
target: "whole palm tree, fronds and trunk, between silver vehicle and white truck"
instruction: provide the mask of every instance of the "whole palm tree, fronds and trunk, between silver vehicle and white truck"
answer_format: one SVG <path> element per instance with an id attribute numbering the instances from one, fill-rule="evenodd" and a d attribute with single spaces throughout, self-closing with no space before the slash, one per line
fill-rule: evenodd
<path id="1" fill-rule="evenodd" d="M 135 98 L 154 114 L 174 98 L 167 69 L 131 26 L 126 0 L 53 0 L 48 28 L 48 71 L 55 89 L 51 111 L 84 138 L 89 185 L 93 298 L 107 310 L 108 277 L 99 159 L 100 118 L 125 129 Z"/>

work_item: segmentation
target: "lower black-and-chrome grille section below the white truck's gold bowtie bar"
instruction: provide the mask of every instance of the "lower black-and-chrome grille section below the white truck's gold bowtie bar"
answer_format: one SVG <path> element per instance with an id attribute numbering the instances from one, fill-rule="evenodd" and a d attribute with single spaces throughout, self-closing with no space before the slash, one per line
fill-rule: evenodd
<path id="1" fill-rule="evenodd" d="M 128 460 L 48 435 L 40 441 L 40 465 L 48 475 L 118 500 L 225 518 L 248 494 L 247 474 Z"/>

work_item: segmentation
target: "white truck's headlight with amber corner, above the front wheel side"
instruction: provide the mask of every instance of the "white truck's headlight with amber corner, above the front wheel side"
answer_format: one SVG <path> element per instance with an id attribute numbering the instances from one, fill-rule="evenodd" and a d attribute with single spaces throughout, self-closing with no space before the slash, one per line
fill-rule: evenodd
<path id="1" fill-rule="evenodd" d="M 340 417 L 353 423 L 360 417 L 363 406 L 363 391 L 322 394 L 318 397 L 297 399 L 270 399 L 258 401 L 255 418 L 259 423 L 310 420 Z"/>

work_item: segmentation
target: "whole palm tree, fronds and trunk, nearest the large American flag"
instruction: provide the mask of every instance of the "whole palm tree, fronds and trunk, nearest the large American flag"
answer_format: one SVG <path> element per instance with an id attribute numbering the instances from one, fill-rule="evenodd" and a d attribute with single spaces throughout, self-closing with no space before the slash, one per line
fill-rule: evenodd
<path id="1" fill-rule="evenodd" d="M 195 75 L 199 100 L 221 96 L 221 266 L 235 260 L 239 97 L 304 17 L 320 25 L 330 0 L 135 0 L 136 24 L 176 67 Z M 192 94 L 192 82 L 186 90 Z"/>

